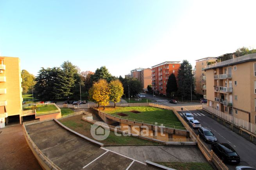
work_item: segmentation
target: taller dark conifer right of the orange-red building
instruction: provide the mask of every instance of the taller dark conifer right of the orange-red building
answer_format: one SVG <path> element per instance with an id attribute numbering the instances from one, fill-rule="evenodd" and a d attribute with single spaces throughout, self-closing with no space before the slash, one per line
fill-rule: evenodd
<path id="1" fill-rule="evenodd" d="M 188 100 L 191 97 L 190 90 L 194 93 L 194 77 L 192 74 L 192 65 L 187 61 L 183 60 L 178 71 L 178 84 L 179 95 L 183 96 L 184 99 Z"/>

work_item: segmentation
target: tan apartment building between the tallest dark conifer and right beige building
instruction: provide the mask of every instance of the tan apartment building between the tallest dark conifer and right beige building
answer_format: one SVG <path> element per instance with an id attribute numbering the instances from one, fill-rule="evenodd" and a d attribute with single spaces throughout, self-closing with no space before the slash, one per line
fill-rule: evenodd
<path id="1" fill-rule="evenodd" d="M 216 57 L 207 57 L 202 58 L 199 60 L 195 60 L 195 72 L 194 78 L 195 78 L 195 91 L 198 94 L 206 95 L 206 75 L 204 72 L 204 69 L 207 67 L 208 64 L 213 64 L 217 61 Z"/>

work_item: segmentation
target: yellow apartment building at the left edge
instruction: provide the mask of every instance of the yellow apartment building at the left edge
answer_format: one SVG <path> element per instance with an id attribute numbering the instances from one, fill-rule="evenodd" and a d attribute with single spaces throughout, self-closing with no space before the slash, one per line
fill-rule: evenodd
<path id="1" fill-rule="evenodd" d="M 22 112 L 20 59 L 0 57 L 0 128 Z"/>

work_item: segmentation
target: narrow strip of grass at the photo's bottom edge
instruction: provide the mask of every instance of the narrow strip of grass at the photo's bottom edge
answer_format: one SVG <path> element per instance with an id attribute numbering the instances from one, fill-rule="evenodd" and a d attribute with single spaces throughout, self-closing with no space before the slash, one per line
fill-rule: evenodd
<path id="1" fill-rule="evenodd" d="M 213 170 L 209 163 L 201 162 L 156 162 L 160 165 L 174 168 L 176 170 Z"/>

